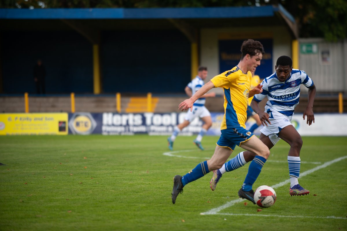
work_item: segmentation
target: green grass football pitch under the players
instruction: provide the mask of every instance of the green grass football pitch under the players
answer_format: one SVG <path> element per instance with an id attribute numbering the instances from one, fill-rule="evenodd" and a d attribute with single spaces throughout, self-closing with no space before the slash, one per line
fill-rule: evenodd
<path id="1" fill-rule="evenodd" d="M 260 212 L 232 203 L 249 164 L 215 191 L 208 173 L 172 204 L 173 176 L 210 158 L 218 140 L 205 136 L 200 151 L 194 138 L 179 136 L 170 152 L 163 136 L 0 137 L 0 230 L 347 230 L 347 158 L 336 160 L 347 155 L 346 137 L 303 137 L 299 183 L 310 194 L 290 197 L 285 183 Z M 282 140 L 270 150 L 254 189 L 289 178 L 288 150 Z"/>

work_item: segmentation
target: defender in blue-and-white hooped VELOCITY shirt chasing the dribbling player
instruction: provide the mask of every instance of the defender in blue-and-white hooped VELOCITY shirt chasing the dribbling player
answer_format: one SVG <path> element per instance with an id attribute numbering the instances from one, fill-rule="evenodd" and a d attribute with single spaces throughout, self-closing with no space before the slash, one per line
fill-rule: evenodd
<path id="1" fill-rule="evenodd" d="M 301 196 L 310 193 L 310 191 L 301 187 L 298 182 L 301 164 L 300 150 L 303 142 L 300 134 L 291 125 L 291 118 L 294 108 L 299 103 L 300 85 L 303 84 L 308 88 L 308 104 L 303 119 L 305 120 L 305 116 L 307 116 L 307 124 L 314 123 L 312 108 L 316 87 L 304 71 L 293 69 L 292 64 L 293 61 L 288 56 L 281 56 L 277 59 L 276 72 L 263 80 L 263 92 L 254 96 L 251 106 L 264 125 L 260 130 L 260 140 L 269 149 L 276 145 L 280 139 L 290 145 L 287 157 L 290 177 L 289 194 Z M 268 102 L 266 102 L 265 112 L 263 112 L 259 108 L 259 102 L 265 96 L 268 97 Z M 223 173 L 244 166 L 254 156 L 255 154 L 250 151 L 240 152 L 219 170 L 213 171 L 213 177 L 210 181 L 211 189 L 215 189 Z"/>

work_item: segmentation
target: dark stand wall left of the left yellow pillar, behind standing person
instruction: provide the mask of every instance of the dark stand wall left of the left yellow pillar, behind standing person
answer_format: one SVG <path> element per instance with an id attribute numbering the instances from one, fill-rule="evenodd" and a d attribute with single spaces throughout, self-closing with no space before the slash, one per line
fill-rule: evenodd
<path id="1" fill-rule="evenodd" d="M 4 93 L 35 93 L 33 68 L 42 59 L 46 93 L 92 93 L 92 45 L 76 32 L 2 33 Z"/>

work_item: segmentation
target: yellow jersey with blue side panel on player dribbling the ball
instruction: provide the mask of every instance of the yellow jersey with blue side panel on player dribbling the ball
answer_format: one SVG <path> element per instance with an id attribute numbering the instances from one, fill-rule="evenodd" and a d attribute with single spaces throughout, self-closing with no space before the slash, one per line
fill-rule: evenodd
<path id="1" fill-rule="evenodd" d="M 246 128 L 247 104 L 251 88 L 251 72 L 243 73 L 235 66 L 229 71 L 214 76 L 211 82 L 224 90 L 224 116 L 220 129 Z"/>

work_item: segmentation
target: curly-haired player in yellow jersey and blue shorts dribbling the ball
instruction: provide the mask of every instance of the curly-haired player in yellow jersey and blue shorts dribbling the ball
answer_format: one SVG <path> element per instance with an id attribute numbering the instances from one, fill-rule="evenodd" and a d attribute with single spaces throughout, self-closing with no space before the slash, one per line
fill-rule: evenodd
<path id="1" fill-rule="evenodd" d="M 259 41 L 248 39 L 241 46 L 241 60 L 237 66 L 223 72 L 202 86 L 193 96 L 184 100 L 178 106 L 181 110 L 193 108 L 194 102 L 212 88 L 220 87 L 224 90 L 224 116 L 221 123 L 221 136 L 217 141 L 217 147 L 211 159 L 199 163 L 193 170 L 184 176 L 174 177 L 172 189 L 172 203 L 175 204 L 179 193 L 189 182 L 195 181 L 210 171 L 222 167 L 231 155 L 235 146 L 252 151 L 256 154 L 248 168 L 245 181 L 238 195 L 254 203 L 252 185 L 259 176 L 261 169 L 270 155 L 269 148 L 252 132 L 246 130 L 248 98 L 262 92 L 262 86 L 258 84 L 251 87 L 251 72 L 260 65 L 264 54 L 263 45 Z M 255 203 L 254 203 L 255 204 Z"/>

